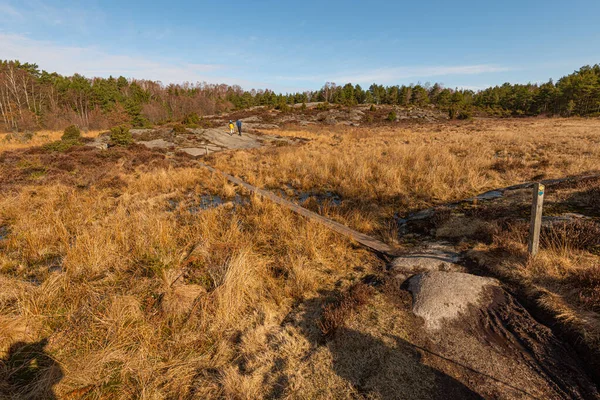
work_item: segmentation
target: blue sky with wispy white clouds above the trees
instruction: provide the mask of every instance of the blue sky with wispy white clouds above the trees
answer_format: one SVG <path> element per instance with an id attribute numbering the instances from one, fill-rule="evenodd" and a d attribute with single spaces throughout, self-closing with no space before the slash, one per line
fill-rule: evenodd
<path id="1" fill-rule="evenodd" d="M 0 59 L 245 89 L 479 89 L 600 63 L 599 0 L 0 0 Z"/>

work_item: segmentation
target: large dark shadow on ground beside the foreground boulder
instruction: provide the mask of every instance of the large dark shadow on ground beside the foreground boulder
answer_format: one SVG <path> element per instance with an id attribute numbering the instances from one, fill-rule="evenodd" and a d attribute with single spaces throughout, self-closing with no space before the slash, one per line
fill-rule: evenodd
<path id="1" fill-rule="evenodd" d="M 324 298 L 331 293 L 323 294 Z M 327 340 L 317 327 L 323 298 L 305 302 L 305 312 L 295 323 L 313 351 L 326 346 L 335 373 L 367 398 L 380 399 L 481 399 L 458 380 L 421 362 L 409 342 L 393 337 L 384 341 L 347 327 L 336 329 Z M 305 361 L 311 357 L 311 351 Z M 281 393 L 281 391 L 280 391 Z"/>

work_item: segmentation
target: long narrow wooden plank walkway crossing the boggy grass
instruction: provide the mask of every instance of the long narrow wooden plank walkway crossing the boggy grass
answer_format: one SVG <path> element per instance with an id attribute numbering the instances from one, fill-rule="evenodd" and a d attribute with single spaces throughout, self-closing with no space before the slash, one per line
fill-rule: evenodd
<path id="1" fill-rule="evenodd" d="M 375 238 L 365 235 L 364 233 L 357 232 L 353 229 L 348 228 L 345 225 L 340 224 L 339 222 L 332 221 L 329 218 L 323 217 L 322 215 L 319 215 L 315 212 L 307 210 L 306 208 L 301 207 L 298 204 L 293 203 L 289 200 L 283 199 L 268 190 L 264 190 L 264 189 L 257 188 L 256 186 L 252 186 L 249 183 L 246 183 L 243 180 L 236 178 L 235 176 L 226 174 L 225 172 L 215 169 L 206 164 L 200 163 L 200 165 L 202 165 L 203 167 L 207 168 L 208 170 L 210 170 L 212 172 L 216 172 L 218 174 L 223 175 L 230 182 L 235 183 L 238 186 L 242 186 L 242 187 L 250 190 L 251 192 L 254 192 L 254 193 L 256 193 L 260 196 L 263 196 L 277 204 L 287 207 L 290 210 L 294 211 L 295 213 L 300 214 L 312 221 L 319 222 L 319 223 L 327 226 L 329 229 L 333 230 L 334 232 L 342 234 L 342 235 L 360 243 L 361 245 L 363 245 L 365 247 L 375 250 L 378 253 L 381 253 L 384 255 L 393 255 L 395 252 L 395 249 L 393 247 L 391 247 Z"/>

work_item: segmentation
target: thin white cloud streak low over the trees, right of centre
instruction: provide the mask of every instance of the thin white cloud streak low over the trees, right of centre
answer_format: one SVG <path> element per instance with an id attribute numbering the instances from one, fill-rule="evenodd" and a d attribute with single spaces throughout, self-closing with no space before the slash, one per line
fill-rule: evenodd
<path id="1" fill-rule="evenodd" d="M 278 76 L 276 79 L 296 82 L 337 82 L 337 83 L 390 83 L 409 78 L 428 78 L 449 75 L 477 75 L 493 72 L 511 71 L 512 68 L 496 65 L 458 65 L 458 66 L 423 66 L 377 68 L 357 73 L 311 75 L 311 76 Z"/>

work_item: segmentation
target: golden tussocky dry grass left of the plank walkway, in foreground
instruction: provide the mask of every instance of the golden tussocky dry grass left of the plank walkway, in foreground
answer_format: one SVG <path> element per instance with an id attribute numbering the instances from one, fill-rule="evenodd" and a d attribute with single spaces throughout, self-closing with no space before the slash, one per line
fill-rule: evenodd
<path id="1" fill-rule="evenodd" d="M 366 257 L 258 198 L 170 211 L 168 199 L 222 185 L 202 170 L 122 179 L 119 197 L 48 185 L 0 200 L 10 227 L 0 272 L 11 288 L 0 298 L 0 351 L 49 338 L 64 396 L 218 396 L 236 335 L 283 318 L 317 282 Z M 5 390 L 41 390 L 15 385 Z"/>

